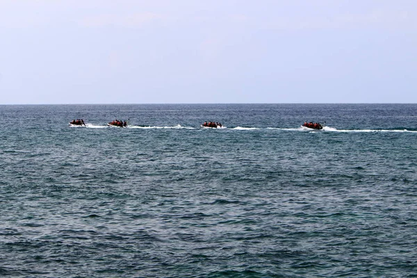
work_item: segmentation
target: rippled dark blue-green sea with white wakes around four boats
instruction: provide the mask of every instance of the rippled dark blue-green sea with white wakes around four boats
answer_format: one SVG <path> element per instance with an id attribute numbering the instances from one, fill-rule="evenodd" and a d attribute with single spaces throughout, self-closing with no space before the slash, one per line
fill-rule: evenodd
<path id="1" fill-rule="evenodd" d="M 0 122 L 0 277 L 417 277 L 417 104 L 6 105 Z"/>

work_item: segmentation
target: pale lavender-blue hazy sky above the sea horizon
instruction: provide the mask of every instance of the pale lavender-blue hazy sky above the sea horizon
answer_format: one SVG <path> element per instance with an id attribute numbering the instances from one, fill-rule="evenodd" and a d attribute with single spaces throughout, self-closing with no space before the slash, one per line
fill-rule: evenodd
<path id="1" fill-rule="evenodd" d="M 417 103 L 415 0 L 0 0 L 0 104 Z"/>

